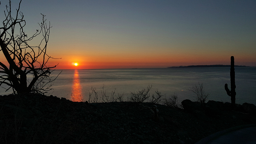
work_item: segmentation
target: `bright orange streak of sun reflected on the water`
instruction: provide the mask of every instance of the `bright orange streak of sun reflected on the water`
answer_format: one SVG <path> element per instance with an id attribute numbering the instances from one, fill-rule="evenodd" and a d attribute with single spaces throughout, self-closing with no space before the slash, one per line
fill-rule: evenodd
<path id="1" fill-rule="evenodd" d="M 72 100 L 81 101 L 82 100 L 82 86 L 80 85 L 80 77 L 78 70 L 74 72 L 73 85 L 72 85 Z"/>

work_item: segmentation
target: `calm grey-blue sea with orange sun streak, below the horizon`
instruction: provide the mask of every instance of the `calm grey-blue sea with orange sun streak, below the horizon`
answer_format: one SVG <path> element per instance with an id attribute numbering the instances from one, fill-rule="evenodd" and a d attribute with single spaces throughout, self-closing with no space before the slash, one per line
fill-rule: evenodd
<path id="1" fill-rule="evenodd" d="M 55 70 L 57 75 L 61 70 Z M 88 100 L 91 87 L 101 96 L 102 87 L 107 95 L 116 89 L 116 93 L 129 95 L 148 85 L 152 85 L 150 94 L 158 90 L 166 97 L 177 93 L 178 100 L 195 100 L 195 94 L 187 89 L 203 83 L 208 100 L 231 102 L 224 85 L 230 88 L 230 68 L 143 68 L 143 69 L 64 69 L 53 82 L 54 90 L 46 95 Z M 256 105 L 256 67 L 235 67 L 236 103 L 244 102 Z M 10 92 L 9 92 L 10 93 Z M 6 94 L 3 88 L 0 94 Z M 73 97 L 73 98 L 72 98 Z"/>

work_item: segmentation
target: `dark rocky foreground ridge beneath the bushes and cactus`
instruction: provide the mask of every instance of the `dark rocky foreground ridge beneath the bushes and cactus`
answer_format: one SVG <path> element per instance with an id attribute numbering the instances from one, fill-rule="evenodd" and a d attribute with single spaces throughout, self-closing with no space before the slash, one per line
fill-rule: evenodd
<path id="1" fill-rule="evenodd" d="M 135 102 L 86 103 L 40 94 L 0 96 L 0 143 L 195 143 L 215 132 L 255 124 L 254 107 L 183 101 L 184 108 L 157 105 L 160 122 Z M 143 103 L 144 106 L 152 106 Z"/>

